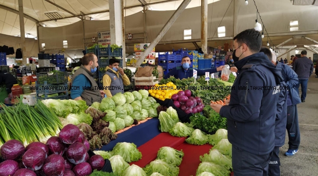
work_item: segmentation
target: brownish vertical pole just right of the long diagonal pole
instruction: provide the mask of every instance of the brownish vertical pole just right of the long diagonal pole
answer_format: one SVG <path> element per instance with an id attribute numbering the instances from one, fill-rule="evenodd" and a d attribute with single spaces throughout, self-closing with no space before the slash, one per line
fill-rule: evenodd
<path id="1" fill-rule="evenodd" d="M 201 44 L 202 51 L 207 54 L 207 0 L 201 0 Z"/>

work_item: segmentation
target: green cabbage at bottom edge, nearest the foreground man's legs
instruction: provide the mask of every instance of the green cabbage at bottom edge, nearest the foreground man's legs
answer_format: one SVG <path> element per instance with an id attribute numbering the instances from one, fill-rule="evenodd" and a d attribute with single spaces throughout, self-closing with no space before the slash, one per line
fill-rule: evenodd
<path id="1" fill-rule="evenodd" d="M 198 176 L 203 172 L 209 172 L 214 174 L 215 176 L 229 176 L 229 174 L 231 173 L 227 168 L 210 162 L 200 163 L 196 175 Z"/>

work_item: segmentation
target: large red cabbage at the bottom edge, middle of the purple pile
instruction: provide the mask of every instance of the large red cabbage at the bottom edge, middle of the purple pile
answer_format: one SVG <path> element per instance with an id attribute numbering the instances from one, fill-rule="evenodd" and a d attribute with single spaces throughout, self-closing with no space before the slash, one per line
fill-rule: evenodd
<path id="1" fill-rule="evenodd" d="M 45 159 L 43 172 L 46 176 L 63 176 L 64 158 L 59 154 L 51 154 Z"/>

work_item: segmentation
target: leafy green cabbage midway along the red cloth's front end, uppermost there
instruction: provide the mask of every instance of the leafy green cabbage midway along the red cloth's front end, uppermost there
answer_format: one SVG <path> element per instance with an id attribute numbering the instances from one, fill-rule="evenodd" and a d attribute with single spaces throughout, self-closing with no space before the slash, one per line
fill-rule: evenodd
<path id="1" fill-rule="evenodd" d="M 157 154 L 157 159 L 171 164 L 173 166 L 180 166 L 184 153 L 171 147 L 161 147 Z"/>

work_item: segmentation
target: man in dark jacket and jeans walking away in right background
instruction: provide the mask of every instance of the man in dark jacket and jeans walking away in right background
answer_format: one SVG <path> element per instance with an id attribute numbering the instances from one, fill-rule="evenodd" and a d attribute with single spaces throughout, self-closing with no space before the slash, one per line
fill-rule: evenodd
<path id="1" fill-rule="evenodd" d="M 294 60 L 295 61 L 295 60 Z M 293 65 L 293 70 L 298 75 L 298 84 L 296 86 L 296 90 L 299 94 L 299 85 L 301 85 L 301 102 L 305 102 L 306 93 L 307 93 L 307 83 L 308 79 L 313 74 L 314 64 L 313 61 L 308 59 L 307 51 L 301 51 L 301 58 L 298 58 Z"/>

